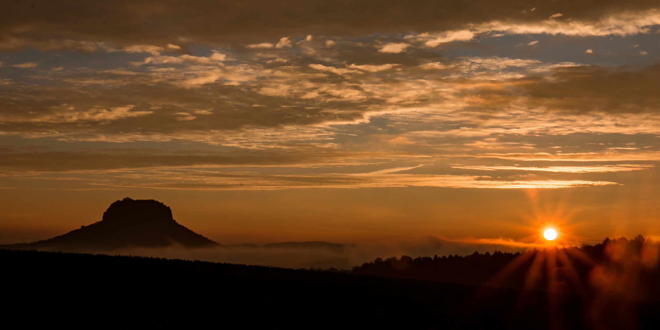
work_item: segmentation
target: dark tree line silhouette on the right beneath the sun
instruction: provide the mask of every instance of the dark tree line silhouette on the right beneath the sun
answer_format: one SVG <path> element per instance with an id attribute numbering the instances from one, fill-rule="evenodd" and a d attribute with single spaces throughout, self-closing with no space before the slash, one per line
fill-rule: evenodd
<path id="1" fill-rule="evenodd" d="M 658 244 L 652 244 L 642 235 L 632 240 L 606 238 L 603 242 L 595 245 L 572 246 L 560 248 L 556 251 L 533 249 L 523 253 L 508 253 L 494 251 L 493 253 L 479 253 L 475 251 L 471 255 L 443 255 L 438 257 L 409 257 L 402 255 L 400 258 L 389 257 L 387 259 L 376 258 L 374 261 L 362 263 L 353 267 L 352 273 L 363 275 L 379 275 L 386 277 L 398 277 L 403 279 L 421 279 L 428 281 L 456 282 L 464 284 L 486 284 L 492 281 L 507 265 L 513 261 L 519 261 L 519 265 L 512 269 L 506 277 L 500 279 L 499 286 L 523 288 L 530 276 L 530 269 L 535 260 L 547 259 L 548 253 L 560 254 L 564 258 L 565 265 L 548 269 L 548 262 L 537 261 L 537 273 L 539 281 L 536 285 L 528 288 L 544 290 L 548 281 L 548 271 L 554 272 L 552 277 L 556 281 L 567 282 L 568 289 L 578 292 L 577 284 L 571 284 L 568 277 L 577 276 L 581 282 L 588 282 L 593 277 L 593 272 L 599 267 L 607 269 L 620 269 L 618 275 L 625 271 L 633 271 L 636 278 L 636 286 L 644 290 L 644 296 L 653 292 L 660 296 L 660 268 L 657 258 L 660 254 Z M 560 262 L 562 258 L 556 257 Z M 616 275 L 616 274 L 615 274 Z M 632 281 L 632 280 L 631 280 Z M 529 286 L 529 285 L 528 285 Z"/>

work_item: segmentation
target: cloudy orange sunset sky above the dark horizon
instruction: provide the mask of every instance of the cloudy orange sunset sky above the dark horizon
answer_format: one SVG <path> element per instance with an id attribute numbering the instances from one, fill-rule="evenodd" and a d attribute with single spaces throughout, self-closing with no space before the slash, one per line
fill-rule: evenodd
<path id="1" fill-rule="evenodd" d="M 0 6 L 0 244 L 123 197 L 220 244 L 660 239 L 657 1 Z"/>

